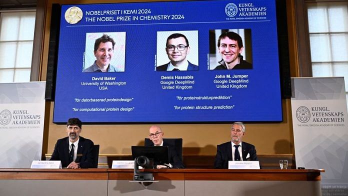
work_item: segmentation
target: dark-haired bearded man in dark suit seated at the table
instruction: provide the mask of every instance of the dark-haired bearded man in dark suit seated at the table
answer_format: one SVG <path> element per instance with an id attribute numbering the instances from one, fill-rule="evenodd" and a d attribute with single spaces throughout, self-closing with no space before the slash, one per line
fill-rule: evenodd
<path id="1" fill-rule="evenodd" d="M 67 137 L 58 139 L 50 160 L 60 160 L 62 167 L 93 167 L 93 141 L 79 136 L 82 122 L 78 118 L 69 118 L 66 123 Z"/>

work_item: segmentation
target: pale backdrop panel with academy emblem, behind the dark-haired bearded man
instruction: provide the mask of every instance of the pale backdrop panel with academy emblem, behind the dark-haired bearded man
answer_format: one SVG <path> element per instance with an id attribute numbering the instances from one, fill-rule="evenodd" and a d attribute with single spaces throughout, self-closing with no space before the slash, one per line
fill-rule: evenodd
<path id="1" fill-rule="evenodd" d="M 0 168 L 41 159 L 45 82 L 0 84 Z"/>

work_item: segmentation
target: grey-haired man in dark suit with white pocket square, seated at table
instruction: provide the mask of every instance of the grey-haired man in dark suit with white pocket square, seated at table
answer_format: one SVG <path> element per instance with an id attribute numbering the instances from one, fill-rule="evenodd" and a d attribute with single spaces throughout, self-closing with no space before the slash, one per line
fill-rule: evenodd
<path id="1" fill-rule="evenodd" d="M 241 141 L 244 135 L 245 125 L 234 122 L 231 126 L 231 140 L 217 145 L 214 168 L 228 168 L 228 160 L 258 160 L 255 146 Z"/>

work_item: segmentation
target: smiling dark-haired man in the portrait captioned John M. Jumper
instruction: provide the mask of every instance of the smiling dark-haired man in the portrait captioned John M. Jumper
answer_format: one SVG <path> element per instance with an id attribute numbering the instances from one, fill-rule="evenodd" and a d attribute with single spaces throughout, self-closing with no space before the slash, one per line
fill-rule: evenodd
<path id="1" fill-rule="evenodd" d="M 239 34 L 232 31 L 222 33 L 217 39 L 217 47 L 222 59 L 214 70 L 252 68 L 252 64 L 243 60 L 240 55 L 244 48 Z"/>

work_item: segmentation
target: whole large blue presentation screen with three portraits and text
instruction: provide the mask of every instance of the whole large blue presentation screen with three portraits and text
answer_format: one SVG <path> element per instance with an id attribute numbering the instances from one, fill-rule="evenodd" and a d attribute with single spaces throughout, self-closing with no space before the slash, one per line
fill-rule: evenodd
<path id="1" fill-rule="evenodd" d="M 61 6 L 53 122 L 281 121 L 274 0 Z"/>

